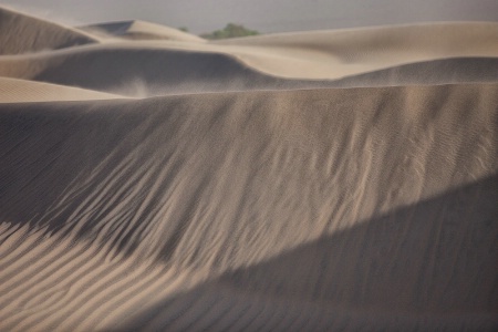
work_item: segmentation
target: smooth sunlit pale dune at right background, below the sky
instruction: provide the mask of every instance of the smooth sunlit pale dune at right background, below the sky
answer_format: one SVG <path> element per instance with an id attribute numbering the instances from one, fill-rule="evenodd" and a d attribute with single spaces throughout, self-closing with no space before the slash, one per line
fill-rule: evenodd
<path id="1" fill-rule="evenodd" d="M 496 58 L 497 39 L 497 23 L 439 23 L 282 33 L 217 44 L 239 46 L 234 54 L 268 74 L 340 79 L 421 61 Z"/>

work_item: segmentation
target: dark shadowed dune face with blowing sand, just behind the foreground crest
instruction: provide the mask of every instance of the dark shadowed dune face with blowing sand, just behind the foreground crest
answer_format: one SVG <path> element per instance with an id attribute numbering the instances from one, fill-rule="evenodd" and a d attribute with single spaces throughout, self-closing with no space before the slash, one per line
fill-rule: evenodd
<path id="1" fill-rule="evenodd" d="M 62 58 L 63 65 L 55 61 L 54 65 L 49 65 L 34 80 L 132 96 L 461 82 L 492 83 L 498 80 L 496 71 L 490 70 L 498 68 L 498 60 L 491 58 L 424 61 L 339 80 L 278 77 L 259 72 L 221 53 L 110 49 Z M 103 75 L 105 80 L 102 79 Z"/>

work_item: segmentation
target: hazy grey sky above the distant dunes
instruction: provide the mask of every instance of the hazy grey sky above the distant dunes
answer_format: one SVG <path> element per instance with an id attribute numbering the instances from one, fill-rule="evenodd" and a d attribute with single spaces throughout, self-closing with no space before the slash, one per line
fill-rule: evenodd
<path id="1" fill-rule="evenodd" d="M 228 22 L 262 32 L 427 21 L 498 21 L 498 0 L 0 0 L 70 24 L 139 19 L 208 32 Z"/>

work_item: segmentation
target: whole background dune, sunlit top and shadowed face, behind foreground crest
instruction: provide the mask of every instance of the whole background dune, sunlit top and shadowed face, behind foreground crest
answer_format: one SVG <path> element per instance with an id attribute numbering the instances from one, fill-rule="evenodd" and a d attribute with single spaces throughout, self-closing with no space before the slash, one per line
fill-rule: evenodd
<path id="1" fill-rule="evenodd" d="M 128 31 L 129 27 L 120 29 Z M 295 35 L 295 39 L 292 34 L 276 34 L 209 43 L 187 39 L 104 42 L 50 53 L 3 56 L 0 75 L 141 97 L 497 81 L 495 23 Z"/>

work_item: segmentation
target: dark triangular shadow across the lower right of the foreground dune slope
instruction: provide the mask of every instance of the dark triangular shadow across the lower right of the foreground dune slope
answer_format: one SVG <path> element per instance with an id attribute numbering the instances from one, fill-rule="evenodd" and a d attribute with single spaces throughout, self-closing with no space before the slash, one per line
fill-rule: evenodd
<path id="1" fill-rule="evenodd" d="M 118 330 L 310 331 L 351 320 L 376 320 L 387 330 L 403 322 L 496 329 L 497 201 L 495 175 L 224 273 L 143 310 Z M 370 312 L 370 321 L 341 310 Z M 245 319 L 250 322 L 238 322 Z M 258 320 L 262 325 L 255 325 Z"/>

